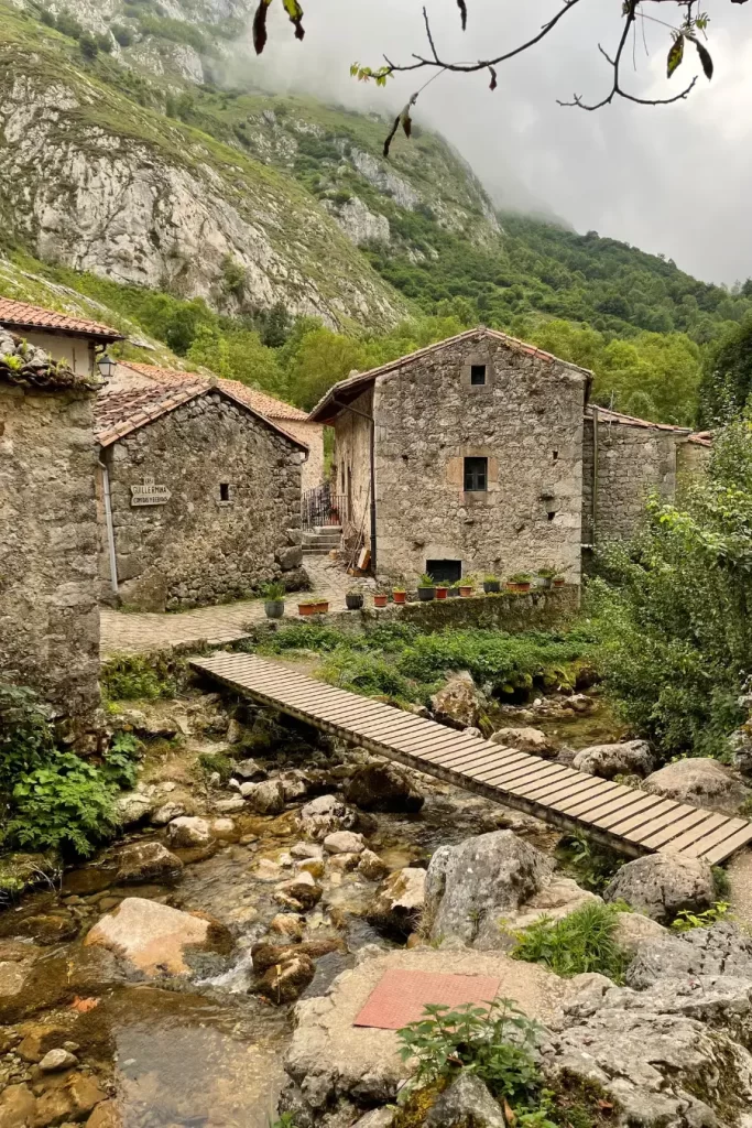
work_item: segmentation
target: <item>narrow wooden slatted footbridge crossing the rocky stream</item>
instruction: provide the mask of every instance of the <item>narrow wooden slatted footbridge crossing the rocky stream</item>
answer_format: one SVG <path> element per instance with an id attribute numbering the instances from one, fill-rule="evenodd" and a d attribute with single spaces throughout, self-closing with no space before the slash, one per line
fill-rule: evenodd
<path id="1" fill-rule="evenodd" d="M 315 681 L 250 654 L 216 653 L 192 666 L 238 694 L 378 756 L 584 831 L 632 857 L 647 853 L 725 861 L 752 840 L 752 822 L 609 783 Z"/>

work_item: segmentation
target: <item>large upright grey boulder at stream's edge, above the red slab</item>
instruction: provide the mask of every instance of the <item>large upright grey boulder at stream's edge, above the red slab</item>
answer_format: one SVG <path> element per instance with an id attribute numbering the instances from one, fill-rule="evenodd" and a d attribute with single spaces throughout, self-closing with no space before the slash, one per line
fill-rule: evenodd
<path id="1" fill-rule="evenodd" d="M 550 858 L 511 830 L 442 846 L 428 865 L 424 931 L 432 940 L 498 948 L 499 922 L 540 892 L 552 867 Z"/>

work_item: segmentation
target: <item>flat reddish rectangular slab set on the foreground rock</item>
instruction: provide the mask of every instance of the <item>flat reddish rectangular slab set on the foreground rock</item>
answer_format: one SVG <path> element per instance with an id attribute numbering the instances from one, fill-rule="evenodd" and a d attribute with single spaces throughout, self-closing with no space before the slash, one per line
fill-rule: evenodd
<path id="1" fill-rule="evenodd" d="M 408 1022 L 424 1017 L 431 1003 L 443 1003 L 452 1010 L 466 1003 L 490 1004 L 498 994 L 499 984 L 497 976 L 452 976 L 390 968 L 369 995 L 353 1025 L 400 1030 Z"/>

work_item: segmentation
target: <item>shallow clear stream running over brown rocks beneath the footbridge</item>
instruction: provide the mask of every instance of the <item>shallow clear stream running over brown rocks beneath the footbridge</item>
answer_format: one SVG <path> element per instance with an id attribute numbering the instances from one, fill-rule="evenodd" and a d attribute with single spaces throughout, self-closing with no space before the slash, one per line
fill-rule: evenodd
<path id="1" fill-rule="evenodd" d="M 505 712 L 494 723 L 533 722 Z M 586 716 L 537 715 L 534 724 L 575 748 L 619 734 L 600 705 Z M 423 777 L 421 788 L 426 802 L 419 814 L 375 816 L 368 845 L 389 871 L 425 866 L 439 846 L 503 827 L 548 852 L 556 846 L 558 831 L 537 820 L 435 779 Z M 26 896 L 0 915 L 0 961 L 14 944 L 18 949 L 18 938 L 37 950 L 32 980 L 20 996 L 8 997 L 0 976 L 6 1049 L 18 1043 L 19 1034 L 26 1039 L 63 1028 L 116 1112 L 112 1120 L 96 1120 L 97 1128 L 268 1128 L 283 1082 L 292 1008 L 249 993 L 250 949 L 267 936 L 281 911 L 274 890 L 291 875 L 285 865 L 287 852 L 300 841 L 299 808 L 289 807 L 275 818 L 240 813 L 231 840 L 204 851 L 176 851 L 185 863 L 177 885 L 118 887 L 121 840 L 68 870 L 60 888 Z M 125 838 L 163 839 L 165 831 L 154 828 Z M 336 937 L 342 950 L 316 961 L 315 979 L 302 997 L 324 993 L 364 944 L 400 942 L 379 934 L 363 915 L 377 883 L 357 872 L 329 869 L 321 879 L 321 901 L 307 914 L 306 938 Z M 188 979 L 129 980 L 110 953 L 83 944 L 91 925 L 124 897 L 209 914 L 233 933 L 231 957 L 207 954 Z M 18 1059 L 18 1050 L 1 1059 L 3 1084 L 28 1079 L 28 1063 Z"/>

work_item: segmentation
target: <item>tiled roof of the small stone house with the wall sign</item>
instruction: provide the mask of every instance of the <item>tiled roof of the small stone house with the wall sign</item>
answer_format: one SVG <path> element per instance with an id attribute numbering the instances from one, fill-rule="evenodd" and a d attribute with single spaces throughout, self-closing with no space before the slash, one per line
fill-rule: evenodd
<path id="1" fill-rule="evenodd" d="M 231 390 L 214 386 L 209 380 L 193 380 L 184 382 L 182 386 L 174 381 L 172 384 L 154 384 L 149 388 L 103 393 L 97 397 L 94 409 L 95 438 L 101 447 L 109 447 L 126 434 L 145 426 L 147 423 L 153 423 L 160 415 L 165 415 L 176 407 L 182 407 L 183 404 L 187 404 L 197 396 L 206 396 L 213 391 L 219 391 L 222 396 L 250 412 L 256 418 L 262 420 L 266 426 L 284 435 L 295 447 L 308 451 L 308 447 L 300 439 L 295 439 L 284 428 L 245 403 Z"/>

